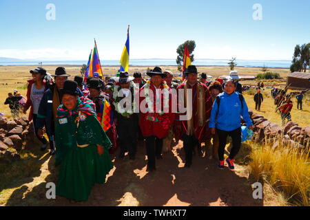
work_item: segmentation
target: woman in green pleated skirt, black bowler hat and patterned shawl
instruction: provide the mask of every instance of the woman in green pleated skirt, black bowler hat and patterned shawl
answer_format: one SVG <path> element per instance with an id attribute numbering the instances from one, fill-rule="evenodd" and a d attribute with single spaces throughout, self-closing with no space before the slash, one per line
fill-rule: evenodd
<path id="1" fill-rule="evenodd" d="M 94 103 L 76 94 L 76 82 L 66 80 L 56 116 L 56 162 L 61 164 L 56 195 L 86 201 L 95 183 L 103 184 L 113 168 L 111 142 L 96 118 Z"/>

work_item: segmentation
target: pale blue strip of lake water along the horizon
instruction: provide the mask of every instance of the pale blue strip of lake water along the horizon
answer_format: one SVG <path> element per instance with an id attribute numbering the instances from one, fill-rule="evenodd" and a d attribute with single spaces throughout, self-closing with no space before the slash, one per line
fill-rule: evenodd
<path id="1" fill-rule="evenodd" d="M 40 61 L 41 62 L 41 61 Z M 197 59 L 192 64 L 198 66 L 227 66 L 229 60 L 216 59 Z M 42 61 L 42 65 L 83 65 L 87 61 Z M 255 60 L 237 60 L 238 67 L 278 67 L 289 68 L 291 61 L 255 61 Z M 0 65 L 39 65 L 39 61 L 17 61 L 17 62 L 0 62 Z M 119 61 L 103 60 L 101 65 L 118 66 Z M 156 66 L 156 65 L 176 65 L 175 59 L 132 59 L 132 66 Z"/>

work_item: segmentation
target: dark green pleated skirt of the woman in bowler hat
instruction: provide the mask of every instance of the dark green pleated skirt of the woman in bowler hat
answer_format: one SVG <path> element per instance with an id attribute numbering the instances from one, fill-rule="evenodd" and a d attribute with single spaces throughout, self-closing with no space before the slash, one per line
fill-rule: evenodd
<path id="1" fill-rule="evenodd" d="M 95 183 L 103 184 L 105 176 L 113 168 L 109 151 L 102 155 L 96 145 L 70 150 L 61 159 L 56 195 L 86 201 Z"/>

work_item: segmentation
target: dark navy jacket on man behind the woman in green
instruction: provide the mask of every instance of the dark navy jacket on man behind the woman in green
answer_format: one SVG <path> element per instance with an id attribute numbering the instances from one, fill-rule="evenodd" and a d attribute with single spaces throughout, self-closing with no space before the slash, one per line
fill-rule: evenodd
<path id="1" fill-rule="evenodd" d="M 45 91 L 39 105 L 36 123 L 37 129 L 43 129 L 45 126 L 49 138 L 54 135 L 55 131 L 53 115 L 53 94 L 55 87 L 56 85 L 54 84 L 50 89 Z M 83 93 L 79 88 L 76 88 L 76 91 L 79 92 L 80 97 L 83 96 Z"/>

